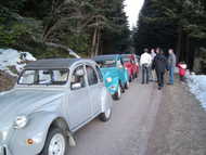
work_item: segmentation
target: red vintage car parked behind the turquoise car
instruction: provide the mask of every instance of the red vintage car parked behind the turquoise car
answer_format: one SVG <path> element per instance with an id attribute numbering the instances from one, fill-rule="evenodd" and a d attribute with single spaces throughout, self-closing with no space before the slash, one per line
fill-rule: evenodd
<path id="1" fill-rule="evenodd" d="M 139 74 L 139 63 L 134 54 L 121 54 L 125 68 L 128 69 L 129 81 L 138 77 Z"/>

